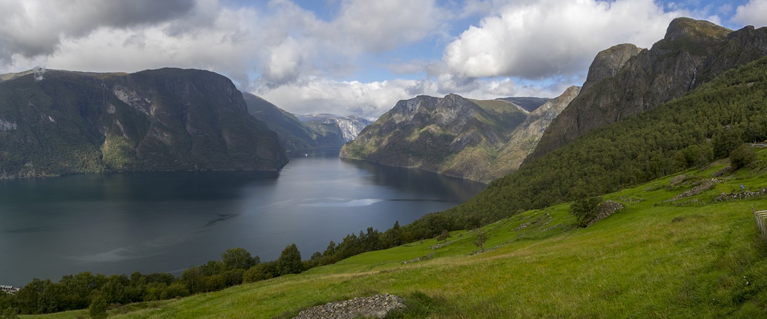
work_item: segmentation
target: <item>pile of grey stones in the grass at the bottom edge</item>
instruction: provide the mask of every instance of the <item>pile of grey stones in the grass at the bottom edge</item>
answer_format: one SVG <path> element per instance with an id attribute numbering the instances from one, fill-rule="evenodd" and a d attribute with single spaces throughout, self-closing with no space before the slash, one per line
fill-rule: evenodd
<path id="1" fill-rule="evenodd" d="M 367 298 L 328 302 L 317 307 L 308 308 L 298 313 L 292 319 L 353 319 L 357 317 L 383 318 L 390 311 L 403 309 L 403 299 L 395 295 L 373 295 Z"/>

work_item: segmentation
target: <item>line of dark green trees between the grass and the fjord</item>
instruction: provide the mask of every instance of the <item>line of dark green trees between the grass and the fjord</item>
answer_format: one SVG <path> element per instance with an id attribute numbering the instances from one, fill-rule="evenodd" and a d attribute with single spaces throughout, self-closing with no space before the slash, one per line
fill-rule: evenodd
<path id="1" fill-rule="evenodd" d="M 103 275 L 81 272 L 64 275 L 58 282 L 34 278 L 18 294 L 0 293 L 0 309 L 12 314 L 50 314 L 91 308 L 91 317 L 105 315 L 108 308 L 140 301 L 159 301 L 198 293 L 219 291 L 242 283 L 258 282 L 281 275 L 297 274 L 321 265 L 404 242 L 399 222 L 381 233 L 373 227 L 359 235 L 349 234 L 341 243 L 328 243 L 324 252 L 302 260 L 298 246 L 288 245 L 278 259 L 262 262 L 242 248 L 227 249 L 221 260 L 195 265 L 176 277 L 157 272 Z"/>

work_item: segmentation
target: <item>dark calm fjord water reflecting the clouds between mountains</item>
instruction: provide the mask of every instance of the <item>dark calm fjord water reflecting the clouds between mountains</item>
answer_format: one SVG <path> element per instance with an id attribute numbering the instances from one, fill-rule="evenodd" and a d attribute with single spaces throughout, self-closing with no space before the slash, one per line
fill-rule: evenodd
<path id="1" fill-rule="evenodd" d="M 174 272 L 242 247 L 304 259 L 347 233 L 463 203 L 485 187 L 407 168 L 293 158 L 280 172 L 146 172 L 0 181 L 0 285 L 77 272 Z"/>

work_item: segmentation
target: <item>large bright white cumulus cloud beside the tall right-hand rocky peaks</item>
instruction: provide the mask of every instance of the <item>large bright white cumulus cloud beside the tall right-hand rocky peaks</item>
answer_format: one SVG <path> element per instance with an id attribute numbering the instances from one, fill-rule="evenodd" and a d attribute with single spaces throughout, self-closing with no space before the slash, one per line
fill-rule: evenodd
<path id="1" fill-rule="evenodd" d="M 514 2 L 463 31 L 443 55 L 463 76 L 541 79 L 583 72 L 614 44 L 649 47 L 684 11 L 663 11 L 652 0 Z"/>

